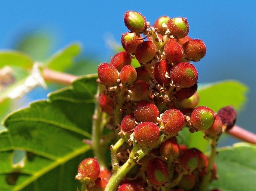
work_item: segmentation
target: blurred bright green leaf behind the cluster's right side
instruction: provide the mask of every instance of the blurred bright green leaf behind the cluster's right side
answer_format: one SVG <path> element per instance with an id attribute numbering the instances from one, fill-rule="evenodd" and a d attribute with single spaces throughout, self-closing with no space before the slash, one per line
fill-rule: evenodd
<path id="1" fill-rule="evenodd" d="M 198 90 L 200 100 L 198 105 L 205 105 L 217 112 L 220 108 L 232 105 L 242 109 L 246 102 L 248 88 L 237 81 L 224 81 L 201 87 Z"/>

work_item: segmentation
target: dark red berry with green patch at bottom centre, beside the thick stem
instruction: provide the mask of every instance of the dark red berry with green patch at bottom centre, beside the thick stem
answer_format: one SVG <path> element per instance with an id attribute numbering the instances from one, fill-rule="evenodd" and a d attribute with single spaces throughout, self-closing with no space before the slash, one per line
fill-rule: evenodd
<path id="1" fill-rule="evenodd" d="M 168 170 L 166 163 L 158 158 L 149 160 L 148 165 L 146 167 L 146 176 L 150 184 L 164 184 L 168 178 Z"/>

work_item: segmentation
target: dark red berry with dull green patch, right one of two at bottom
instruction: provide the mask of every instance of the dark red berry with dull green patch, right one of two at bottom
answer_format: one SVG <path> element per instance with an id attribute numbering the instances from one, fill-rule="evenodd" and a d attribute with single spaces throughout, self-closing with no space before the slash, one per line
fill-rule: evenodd
<path id="1" fill-rule="evenodd" d="M 197 168 L 198 165 L 198 155 L 194 149 L 185 150 L 179 162 L 179 170 L 185 172 L 192 172 Z"/>

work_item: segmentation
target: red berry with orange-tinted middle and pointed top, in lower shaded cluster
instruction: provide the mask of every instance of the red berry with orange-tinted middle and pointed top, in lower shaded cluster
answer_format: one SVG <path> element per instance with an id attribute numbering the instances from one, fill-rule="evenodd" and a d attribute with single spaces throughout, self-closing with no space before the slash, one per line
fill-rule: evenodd
<path id="1" fill-rule="evenodd" d="M 181 150 L 179 148 L 179 145 L 177 143 L 176 137 L 172 137 L 168 139 L 167 141 L 164 141 L 160 147 L 159 147 L 159 153 L 161 156 L 169 158 L 176 159 L 181 154 Z"/>

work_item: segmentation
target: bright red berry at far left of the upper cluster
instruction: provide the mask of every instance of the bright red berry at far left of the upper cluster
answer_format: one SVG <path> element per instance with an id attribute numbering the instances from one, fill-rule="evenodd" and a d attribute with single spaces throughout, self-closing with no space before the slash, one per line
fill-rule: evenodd
<path id="1" fill-rule="evenodd" d="M 105 86 L 114 86 L 118 80 L 118 71 L 113 65 L 102 63 L 98 67 L 98 77 Z"/>

